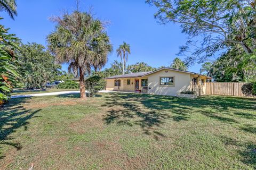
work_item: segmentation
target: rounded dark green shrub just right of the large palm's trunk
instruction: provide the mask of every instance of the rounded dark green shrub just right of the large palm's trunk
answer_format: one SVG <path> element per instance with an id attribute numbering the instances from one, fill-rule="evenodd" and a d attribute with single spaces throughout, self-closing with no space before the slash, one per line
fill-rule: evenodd
<path id="1" fill-rule="evenodd" d="M 95 97 L 97 92 L 103 90 L 106 86 L 106 82 L 101 77 L 95 75 L 85 80 L 85 89 L 89 91 L 90 97 Z"/>

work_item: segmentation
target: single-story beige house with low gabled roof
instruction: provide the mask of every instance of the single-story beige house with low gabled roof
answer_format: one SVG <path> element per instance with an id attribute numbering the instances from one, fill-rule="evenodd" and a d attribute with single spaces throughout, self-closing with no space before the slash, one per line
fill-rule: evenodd
<path id="1" fill-rule="evenodd" d="M 106 90 L 177 96 L 181 91 L 205 94 L 206 75 L 163 67 L 156 71 L 114 75 L 105 78 Z"/>

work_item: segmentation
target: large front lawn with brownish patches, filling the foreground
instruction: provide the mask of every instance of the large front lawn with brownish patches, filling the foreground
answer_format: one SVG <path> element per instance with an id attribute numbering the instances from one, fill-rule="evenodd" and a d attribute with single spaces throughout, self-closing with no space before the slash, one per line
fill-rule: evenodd
<path id="1" fill-rule="evenodd" d="M 2 169 L 256 169 L 256 100 L 99 94 L 11 99 Z"/>

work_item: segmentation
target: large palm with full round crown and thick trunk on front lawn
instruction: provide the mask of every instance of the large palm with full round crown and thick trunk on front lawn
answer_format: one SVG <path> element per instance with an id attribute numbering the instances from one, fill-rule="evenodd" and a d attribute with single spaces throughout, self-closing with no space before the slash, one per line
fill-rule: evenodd
<path id="1" fill-rule="evenodd" d="M 69 63 L 69 69 L 79 74 L 80 97 L 86 98 L 84 74 L 106 64 L 112 51 L 109 37 L 102 22 L 86 12 L 74 11 L 52 20 L 57 26 L 47 37 L 48 47 L 57 62 Z"/>

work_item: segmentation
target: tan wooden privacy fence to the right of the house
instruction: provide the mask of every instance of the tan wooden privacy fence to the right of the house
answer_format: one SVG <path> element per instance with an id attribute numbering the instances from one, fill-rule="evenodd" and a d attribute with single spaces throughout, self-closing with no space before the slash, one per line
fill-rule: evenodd
<path id="1" fill-rule="evenodd" d="M 243 84 L 245 83 L 207 82 L 205 83 L 205 94 L 223 96 L 245 96 L 242 92 Z"/>

